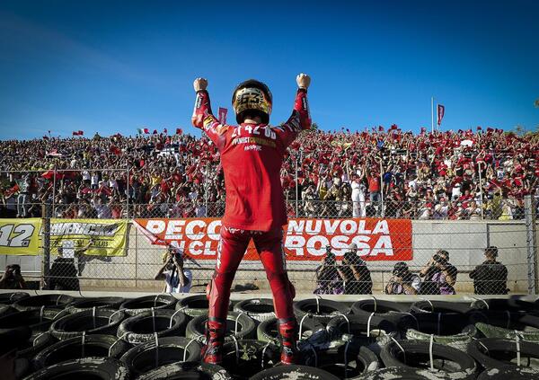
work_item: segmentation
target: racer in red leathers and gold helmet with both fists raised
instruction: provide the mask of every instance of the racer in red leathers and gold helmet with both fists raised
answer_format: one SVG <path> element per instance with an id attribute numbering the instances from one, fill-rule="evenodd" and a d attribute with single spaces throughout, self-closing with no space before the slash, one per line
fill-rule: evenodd
<path id="1" fill-rule="evenodd" d="M 261 82 L 239 84 L 233 95 L 237 127 L 222 125 L 211 112 L 208 81 L 195 80 L 197 92 L 192 122 L 216 145 L 225 173 L 226 207 L 217 248 L 216 270 L 208 285 L 207 345 L 202 354 L 208 363 L 222 361 L 230 287 L 253 239 L 270 281 L 273 305 L 282 342 L 281 362 L 296 361 L 296 294 L 287 277 L 282 226 L 287 224 L 280 169 L 287 146 L 302 129 L 311 127 L 307 103 L 308 75 L 297 75 L 298 90 L 292 115 L 271 127 L 271 93 Z"/>

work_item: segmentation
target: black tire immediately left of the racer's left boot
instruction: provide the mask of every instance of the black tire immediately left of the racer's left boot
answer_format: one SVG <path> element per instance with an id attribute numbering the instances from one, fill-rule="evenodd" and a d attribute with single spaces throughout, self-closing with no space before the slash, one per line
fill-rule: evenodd
<path id="1" fill-rule="evenodd" d="M 128 366 L 131 374 L 141 375 L 156 367 L 183 362 L 187 347 L 186 362 L 199 361 L 202 345 L 183 337 L 167 337 L 158 339 L 159 348 L 155 352 L 155 340 L 146 341 L 129 349 L 120 361 Z M 155 362 L 157 360 L 157 362 Z"/>

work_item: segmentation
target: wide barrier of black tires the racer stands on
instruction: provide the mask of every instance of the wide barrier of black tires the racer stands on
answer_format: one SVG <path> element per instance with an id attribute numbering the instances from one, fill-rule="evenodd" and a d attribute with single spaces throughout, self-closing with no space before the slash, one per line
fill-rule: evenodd
<path id="1" fill-rule="evenodd" d="M 539 378 L 538 304 L 519 299 L 297 301 L 301 362 L 286 367 L 272 300 L 229 306 L 222 366 L 200 362 L 203 295 L 2 294 L 0 333 L 25 332 L 15 368 L 28 380 Z"/>

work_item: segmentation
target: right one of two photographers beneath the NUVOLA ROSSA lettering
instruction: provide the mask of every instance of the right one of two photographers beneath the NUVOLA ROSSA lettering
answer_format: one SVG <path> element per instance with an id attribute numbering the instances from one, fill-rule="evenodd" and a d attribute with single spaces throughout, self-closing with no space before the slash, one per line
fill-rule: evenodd
<path id="1" fill-rule="evenodd" d="M 373 292 L 373 280 L 367 263 L 358 257 L 358 245 L 351 243 L 349 251 L 342 258 L 342 265 L 337 268 L 344 280 L 344 294 L 370 295 Z"/>

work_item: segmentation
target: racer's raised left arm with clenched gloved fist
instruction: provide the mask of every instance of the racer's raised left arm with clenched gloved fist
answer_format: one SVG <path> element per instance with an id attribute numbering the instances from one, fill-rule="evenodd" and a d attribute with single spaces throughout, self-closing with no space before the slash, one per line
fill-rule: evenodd
<path id="1" fill-rule="evenodd" d="M 193 126 L 204 130 L 217 148 L 221 149 L 225 146 L 225 131 L 228 129 L 228 126 L 220 124 L 211 112 L 209 93 L 206 90 L 208 87 L 208 80 L 197 78 L 193 83 L 193 87 L 197 92 L 195 109 L 193 110 L 193 116 L 191 117 Z"/>

